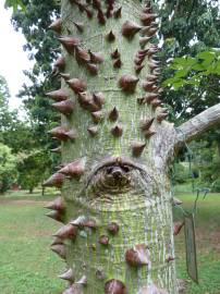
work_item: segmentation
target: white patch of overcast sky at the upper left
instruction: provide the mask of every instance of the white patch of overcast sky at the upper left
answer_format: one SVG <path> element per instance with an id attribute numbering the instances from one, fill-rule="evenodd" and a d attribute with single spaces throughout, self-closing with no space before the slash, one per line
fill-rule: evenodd
<path id="1" fill-rule="evenodd" d="M 23 74 L 24 70 L 32 68 L 27 53 L 23 51 L 25 38 L 21 32 L 15 32 L 10 19 L 12 10 L 4 9 L 4 0 L 0 0 L 0 75 L 2 75 L 10 89 L 10 109 L 22 106 L 16 98 L 22 85 L 28 81 Z"/>

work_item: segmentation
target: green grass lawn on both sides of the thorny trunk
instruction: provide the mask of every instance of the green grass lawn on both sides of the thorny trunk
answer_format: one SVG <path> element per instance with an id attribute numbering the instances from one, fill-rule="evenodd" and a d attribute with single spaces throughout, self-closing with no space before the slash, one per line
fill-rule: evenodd
<path id="1" fill-rule="evenodd" d="M 176 196 L 186 209 L 193 206 L 195 195 L 178 192 Z M 57 279 L 65 265 L 49 250 L 51 234 L 60 224 L 46 218 L 42 208 L 53 197 L 53 191 L 44 197 L 25 192 L 0 197 L 1 294 L 58 294 L 65 287 Z M 174 216 L 180 220 L 181 210 L 175 209 Z M 179 278 L 188 281 L 187 294 L 220 294 L 220 194 L 199 200 L 196 238 L 199 285 L 186 274 L 183 232 L 175 237 Z"/>

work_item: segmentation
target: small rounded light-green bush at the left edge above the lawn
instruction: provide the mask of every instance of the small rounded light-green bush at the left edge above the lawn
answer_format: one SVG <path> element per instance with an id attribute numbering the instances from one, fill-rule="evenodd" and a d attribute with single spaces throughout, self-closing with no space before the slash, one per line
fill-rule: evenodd
<path id="1" fill-rule="evenodd" d="M 0 143 L 0 194 L 15 182 L 16 175 L 16 158 L 7 145 Z"/>

